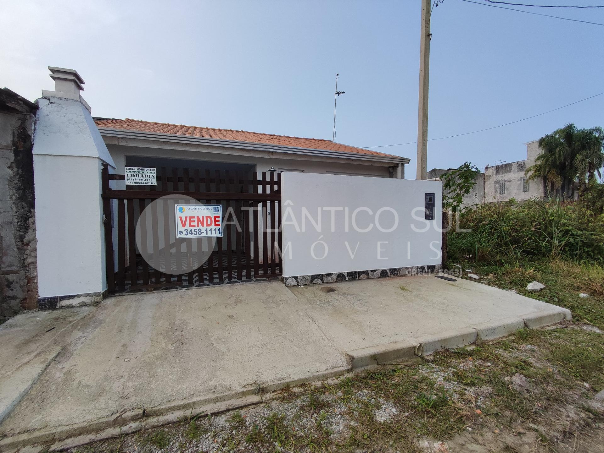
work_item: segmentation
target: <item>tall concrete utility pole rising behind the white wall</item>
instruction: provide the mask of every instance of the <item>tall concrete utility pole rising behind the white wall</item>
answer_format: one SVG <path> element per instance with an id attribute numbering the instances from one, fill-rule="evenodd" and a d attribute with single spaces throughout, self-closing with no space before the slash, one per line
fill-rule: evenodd
<path id="1" fill-rule="evenodd" d="M 428 75 L 430 71 L 430 9 L 432 0 L 422 0 L 422 37 L 419 54 L 419 108 L 417 109 L 417 176 L 426 179 L 428 158 Z"/>

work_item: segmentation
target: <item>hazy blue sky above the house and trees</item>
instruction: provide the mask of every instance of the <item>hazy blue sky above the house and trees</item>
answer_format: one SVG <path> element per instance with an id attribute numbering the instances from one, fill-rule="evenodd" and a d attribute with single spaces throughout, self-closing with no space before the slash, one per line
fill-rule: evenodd
<path id="1" fill-rule="evenodd" d="M 524 1 L 574 2 L 604 4 Z M 336 141 L 417 138 L 420 0 L 2 0 L 0 8 L 0 86 L 30 100 L 53 88 L 46 67 L 63 66 L 86 81 L 95 116 L 331 139 L 339 72 L 346 93 Z M 524 9 L 604 23 L 604 8 Z M 445 0 L 432 15 L 429 138 L 604 92 L 603 38 L 597 25 Z M 567 122 L 604 126 L 603 106 L 604 95 L 431 141 L 428 169 L 525 159 L 524 142 Z M 410 157 L 406 177 L 415 177 L 416 145 L 375 149 Z"/>

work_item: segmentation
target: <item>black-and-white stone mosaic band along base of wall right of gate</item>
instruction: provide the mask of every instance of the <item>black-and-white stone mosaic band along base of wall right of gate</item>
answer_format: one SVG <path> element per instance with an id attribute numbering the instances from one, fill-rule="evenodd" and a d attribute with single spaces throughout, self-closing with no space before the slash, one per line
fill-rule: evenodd
<path id="1" fill-rule="evenodd" d="M 436 274 L 441 270 L 440 264 L 429 266 L 393 267 L 388 269 L 371 269 L 366 271 L 334 272 L 331 274 L 298 275 L 283 277 L 286 287 L 312 285 L 320 283 L 345 282 L 347 280 L 376 279 L 380 277 L 403 277 L 424 274 Z"/>

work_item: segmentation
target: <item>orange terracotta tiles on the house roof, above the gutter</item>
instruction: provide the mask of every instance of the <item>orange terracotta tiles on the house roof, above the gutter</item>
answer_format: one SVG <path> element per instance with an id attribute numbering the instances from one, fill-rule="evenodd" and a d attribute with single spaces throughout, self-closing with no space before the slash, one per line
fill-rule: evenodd
<path id="1" fill-rule="evenodd" d="M 182 124 L 169 124 L 165 122 L 140 121 L 138 119 L 104 119 L 96 118 L 98 128 L 137 130 L 143 132 L 158 132 L 163 134 L 188 135 L 193 137 L 214 138 L 222 140 L 235 140 L 240 142 L 265 143 L 287 147 L 312 148 L 315 150 L 345 151 L 355 154 L 368 154 L 370 156 L 398 157 L 392 154 L 378 153 L 364 148 L 342 145 L 330 140 L 290 137 L 285 135 L 263 134 L 245 130 L 214 129 L 210 127 L 184 126 Z"/>

